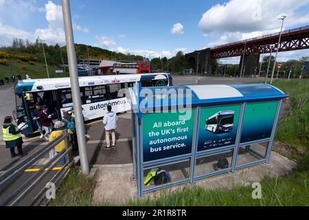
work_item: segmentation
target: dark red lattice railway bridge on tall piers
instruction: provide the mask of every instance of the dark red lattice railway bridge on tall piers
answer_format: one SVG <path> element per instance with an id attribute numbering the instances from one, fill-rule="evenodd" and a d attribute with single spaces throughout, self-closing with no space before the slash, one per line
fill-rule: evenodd
<path id="1" fill-rule="evenodd" d="M 268 34 L 253 39 L 195 51 L 186 54 L 185 57 L 192 69 L 196 69 L 198 63 L 198 72 L 207 72 L 209 74 L 211 73 L 212 59 L 241 56 L 240 63 L 242 63 L 244 54 L 244 66 L 246 67 L 244 74 L 249 75 L 253 74 L 255 68 L 258 67 L 260 54 L 269 54 L 277 51 L 278 41 L 279 33 Z M 309 49 L 309 26 L 282 32 L 279 52 L 304 49 Z"/>

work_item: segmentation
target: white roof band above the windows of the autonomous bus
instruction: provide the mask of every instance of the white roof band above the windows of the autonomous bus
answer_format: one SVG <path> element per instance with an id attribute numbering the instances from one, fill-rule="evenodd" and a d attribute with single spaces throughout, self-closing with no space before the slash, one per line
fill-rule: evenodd
<path id="1" fill-rule="evenodd" d="M 111 76 L 84 76 L 79 77 L 80 87 L 95 85 L 108 85 L 117 83 L 134 83 L 141 80 L 160 80 L 166 79 L 170 74 L 126 74 Z M 15 94 L 23 92 L 52 91 L 56 89 L 71 88 L 70 78 L 43 78 L 34 80 L 21 80 L 16 84 Z"/>

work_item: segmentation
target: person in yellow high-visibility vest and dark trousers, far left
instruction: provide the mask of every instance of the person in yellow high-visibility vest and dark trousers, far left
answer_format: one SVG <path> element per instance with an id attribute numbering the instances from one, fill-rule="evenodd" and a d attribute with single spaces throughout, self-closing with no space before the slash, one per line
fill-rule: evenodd
<path id="1" fill-rule="evenodd" d="M 5 142 L 6 148 L 10 148 L 12 158 L 17 156 L 15 147 L 17 147 L 19 156 L 24 157 L 27 154 L 23 153 L 23 137 L 21 137 L 21 130 L 12 124 L 12 122 L 12 116 L 5 117 L 2 126 L 3 141 Z"/>

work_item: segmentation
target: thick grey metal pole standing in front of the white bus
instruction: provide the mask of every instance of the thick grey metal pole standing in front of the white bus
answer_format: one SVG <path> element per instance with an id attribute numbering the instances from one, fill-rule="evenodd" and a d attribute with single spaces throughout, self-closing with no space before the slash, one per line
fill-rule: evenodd
<path id="1" fill-rule="evenodd" d="M 76 122 L 76 133 L 78 136 L 78 150 L 80 151 L 80 165 L 82 168 L 82 173 L 84 175 L 88 175 L 89 164 L 87 158 L 86 137 L 84 135 L 84 120 L 82 117 L 82 101 L 80 100 L 80 85 L 78 82 L 78 67 L 73 37 L 71 9 L 69 0 L 61 0 L 61 2 L 63 21 L 65 25 L 65 41 L 67 43 L 67 58 L 69 61 L 69 74 Z"/>

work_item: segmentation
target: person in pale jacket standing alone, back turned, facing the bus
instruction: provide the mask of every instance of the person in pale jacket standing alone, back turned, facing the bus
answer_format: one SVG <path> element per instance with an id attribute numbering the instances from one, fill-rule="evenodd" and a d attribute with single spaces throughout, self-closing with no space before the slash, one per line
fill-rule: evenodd
<path id="1" fill-rule="evenodd" d="M 106 145 L 104 150 L 111 149 L 111 141 L 109 140 L 109 136 L 112 136 L 112 147 L 115 148 L 116 146 L 116 135 L 115 129 L 117 128 L 117 121 L 118 117 L 115 112 L 111 111 L 111 105 L 107 107 L 107 113 L 104 115 L 103 124 L 105 126 L 105 138 L 106 138 Z"/>

